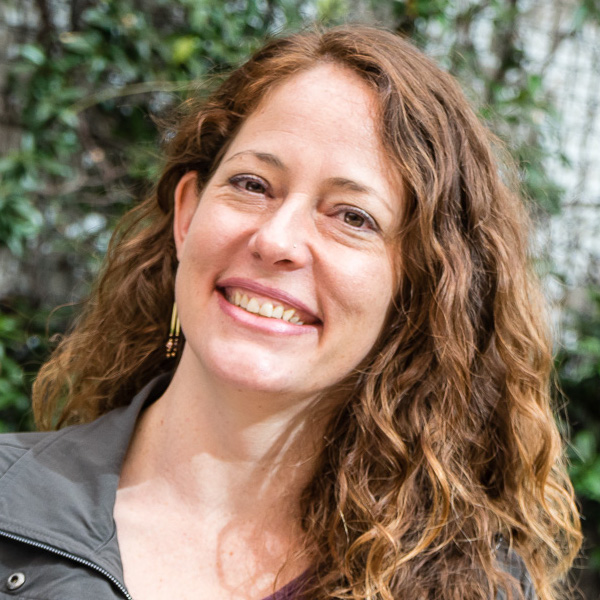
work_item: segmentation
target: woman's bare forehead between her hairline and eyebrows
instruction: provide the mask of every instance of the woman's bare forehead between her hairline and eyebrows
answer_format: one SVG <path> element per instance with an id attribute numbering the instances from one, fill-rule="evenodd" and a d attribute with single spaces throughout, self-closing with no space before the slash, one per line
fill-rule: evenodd
<path id="1" fill-rule="evenodd" d="M 360 181 L 395 212 L 402 186 L 381 143 L 377 106 L 375 92 L 356 73 L 319 64 L 266 94 L 224 162 L 246 152 L 269 153 L 307 186 L 313 177 Z"/>

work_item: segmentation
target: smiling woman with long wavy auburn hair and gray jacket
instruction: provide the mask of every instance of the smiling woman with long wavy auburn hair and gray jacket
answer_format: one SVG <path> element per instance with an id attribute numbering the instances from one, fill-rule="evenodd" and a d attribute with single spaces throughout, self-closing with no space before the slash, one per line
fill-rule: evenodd
<path id="1" fill-rule="evenodd" d="M 558 598 L 580 534 L 527 219 L 454 81 L 302 33 L 167 137 L 37 379 L 58 432 L 4 438 L 10 593 Z"/>

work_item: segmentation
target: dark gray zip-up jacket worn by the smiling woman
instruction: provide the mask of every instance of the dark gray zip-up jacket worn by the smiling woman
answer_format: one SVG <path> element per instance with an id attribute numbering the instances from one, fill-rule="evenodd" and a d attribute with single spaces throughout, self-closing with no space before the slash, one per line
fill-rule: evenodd
<path id="1" fill-rule="evenodd" d="M 131 404 L 92 423 L 0 436 L 0 600 L 131 598 L 115 495 L 138 414 L 168 381 L 168 375 L 154 379 Z M 503 547 L 497 553 L 533 600 L 522 560 Z"/>

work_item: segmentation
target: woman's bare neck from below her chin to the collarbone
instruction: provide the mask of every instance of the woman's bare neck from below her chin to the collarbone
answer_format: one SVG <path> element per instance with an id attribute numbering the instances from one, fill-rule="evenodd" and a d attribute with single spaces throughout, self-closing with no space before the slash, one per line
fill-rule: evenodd
<path id="1" fill-rule="evenodd" d="M 297 521 L 325 424 L 324 415 L 314 416 L 316 402 L 236 389 L 184 354 L 140 418 L 121 488 L 159 486 L 200 517 Z"/>

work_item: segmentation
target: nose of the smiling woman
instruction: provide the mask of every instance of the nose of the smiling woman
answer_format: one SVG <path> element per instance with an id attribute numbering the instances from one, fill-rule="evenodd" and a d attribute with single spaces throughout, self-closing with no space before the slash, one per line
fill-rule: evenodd
<path id="1" fill-rule="evenodd" d="M 264 219 L 252 234 L 252 255 L 268 265 L 296 269 L 310 260 L 312 219 L 306 196 L 286 198 Z"/>

